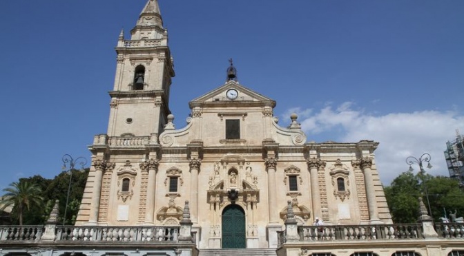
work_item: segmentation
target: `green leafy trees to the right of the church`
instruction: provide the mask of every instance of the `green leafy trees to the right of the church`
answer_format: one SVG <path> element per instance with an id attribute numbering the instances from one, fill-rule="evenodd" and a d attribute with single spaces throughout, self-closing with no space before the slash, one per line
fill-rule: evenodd
<path id="1" fill-rule="evenodd" d="M 385 196 L 395 223 L 417 222 L 420 197 L 423 198 L 427 211 L 430 204 L 435 221 L 441 221 L 440 217 L 449 217 L 450 211 L 457 211 L 458 217 L 464 215 L 464 192 L 460 189 L 458 180 L 443 176 L 423 173 L 414 175 L 412 171 L 406 171 L 398 175 L 390 186 L 385 187 Z"/>

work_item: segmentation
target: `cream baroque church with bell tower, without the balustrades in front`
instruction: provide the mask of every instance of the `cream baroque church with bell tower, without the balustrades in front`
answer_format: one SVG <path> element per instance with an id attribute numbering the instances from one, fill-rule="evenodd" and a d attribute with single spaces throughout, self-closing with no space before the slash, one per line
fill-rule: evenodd
<path id="1" fill-rule="evenodd" d="M 108 131 L 89 146 L 76 226 L 180 226 L 186 201 L 200 249 L 277 248 L 289 209 L 299 226 L 392 224 L 378 142 L 307 142 L 298 116 L 278 120 L 276 101 L 239 83 L 232 63 L 175 127 L 157 0 L 115 49 Z"/>

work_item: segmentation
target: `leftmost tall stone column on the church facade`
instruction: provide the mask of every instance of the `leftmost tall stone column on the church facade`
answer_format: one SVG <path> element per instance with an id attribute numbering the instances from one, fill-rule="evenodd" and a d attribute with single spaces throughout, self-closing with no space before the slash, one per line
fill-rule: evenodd
<path id="1" fill-rule="evenodd" d="M 96 225 L 98 223 L 98 211 L 100 208 L 101 195 L 101 179 L 103 178 L 104 170 L 110 164 L 111 163 L 106 160 L 95 160 L 92 162 L 93 167 L 95 167 L 95 178 L 93 181 L 92 204 L 90 205 L 90 216 L 88 219 L 88 224 Z"/>

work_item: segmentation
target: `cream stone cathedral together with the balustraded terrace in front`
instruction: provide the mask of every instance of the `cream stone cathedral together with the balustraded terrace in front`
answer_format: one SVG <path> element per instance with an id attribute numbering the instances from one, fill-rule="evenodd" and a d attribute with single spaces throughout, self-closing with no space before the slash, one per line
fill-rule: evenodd
<path id="1" fill-rule="evenodd" d="M 176 127 L 168 32 L 146 1 L 131 38 L 119 34 L 75 226 L 59 224 L 57 201 L 44 225 L 0 226 L 0 256 L 464 255 L 464 225 L 434 222 L 421 198 L 417 223 L 392 223 L 378 142 L 308 141 L 232 60 Z"/>

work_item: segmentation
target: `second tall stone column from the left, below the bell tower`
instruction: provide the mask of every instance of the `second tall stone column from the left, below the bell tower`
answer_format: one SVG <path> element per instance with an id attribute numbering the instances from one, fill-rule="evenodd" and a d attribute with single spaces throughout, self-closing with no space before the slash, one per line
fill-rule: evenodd
<path id="1" fill-rule="evenodd" d="M 154 224 L 155 215 L 155 194 L 156 194 L 156 173 L 160 162 L 158 160 L 148 160 L 140 163 L 140 169 L 148 171 L 148 183 L 146 186 L 146 211 L 144 224 Z"/>

